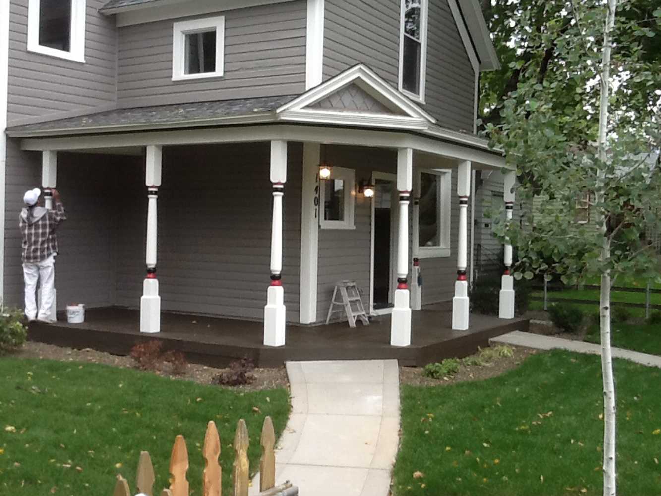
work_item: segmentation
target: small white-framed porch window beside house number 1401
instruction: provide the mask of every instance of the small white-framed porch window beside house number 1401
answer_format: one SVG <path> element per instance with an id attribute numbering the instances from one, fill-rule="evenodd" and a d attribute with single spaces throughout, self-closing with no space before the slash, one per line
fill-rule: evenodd
<path id="1" fill-rule="evenodd" d="M 333 167 L 332 177 L 321 179 L 319 183 L 321 229 L 355 229 L 356 171 Z"/>

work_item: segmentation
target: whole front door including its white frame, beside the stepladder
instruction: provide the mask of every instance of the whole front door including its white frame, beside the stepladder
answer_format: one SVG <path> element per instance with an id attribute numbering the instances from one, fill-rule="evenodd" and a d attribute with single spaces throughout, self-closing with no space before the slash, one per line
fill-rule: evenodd
<path id="1" fill-rule="evenodd" d="M 389 174 L 374 173 L 375 186 L 372 200 L 372 309 L 379 310 L 393 306 L 393 259 L 395 255 L 395 226 L 397 213 L 397 189 L 395 177 Z"/>

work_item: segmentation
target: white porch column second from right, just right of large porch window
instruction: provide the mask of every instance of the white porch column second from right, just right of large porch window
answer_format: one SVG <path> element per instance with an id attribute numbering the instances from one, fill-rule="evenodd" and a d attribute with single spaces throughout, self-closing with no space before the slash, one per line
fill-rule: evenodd
<path id="1" fill-rule="evenodd" d="M 469 321 L 468 281 L 466 278 L 468 249 L 468 198 L 471 194 L 471 163 L 459 163 L 457 195 L 459 196 L 459 239 L 457 247 L 457 281 L 452 298 L 452 329 L 466 331 Z"/>

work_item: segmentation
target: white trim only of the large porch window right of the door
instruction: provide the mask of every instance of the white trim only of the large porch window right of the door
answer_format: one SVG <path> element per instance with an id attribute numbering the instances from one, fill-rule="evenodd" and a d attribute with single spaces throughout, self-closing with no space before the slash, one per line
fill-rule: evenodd
<path id="1" fill-rule="evenodd" d="M 415 244 L 414 253 L 418 259 L 438 259 L 449 257 L 450 250 L 450 226 L 451 226 L 451 198 L 452 198 L 452 171 L 451 169 L 416 169 L 414 193 L 416 201 L 420 198 L 420 173 L 434 174 L 440 178 L 438 190 L 436 192 L 438 212 L 438 234 L 440 246 L 420 246 L 418 245 L 418 229 L 420 210 L 414 209 L 412 242 Z"/>

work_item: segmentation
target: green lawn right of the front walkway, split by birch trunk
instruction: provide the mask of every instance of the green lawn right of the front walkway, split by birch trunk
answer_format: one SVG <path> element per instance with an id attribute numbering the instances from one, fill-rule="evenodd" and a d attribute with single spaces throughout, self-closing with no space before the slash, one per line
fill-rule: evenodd
<path id="1" fill-rule="evenodd" d="M 615 378 L 619 494 L 658 494 L 661 370 L 616 360 Z M 535 354 L 483 382 L 403 386 L 401 403 L 396 496 L 602 494 L 598 356 Z"/>

